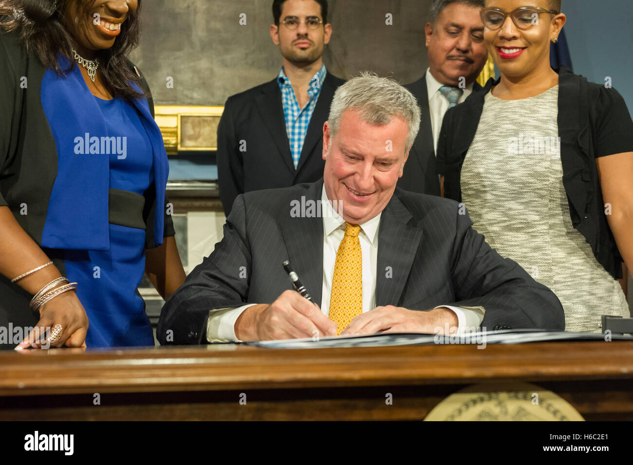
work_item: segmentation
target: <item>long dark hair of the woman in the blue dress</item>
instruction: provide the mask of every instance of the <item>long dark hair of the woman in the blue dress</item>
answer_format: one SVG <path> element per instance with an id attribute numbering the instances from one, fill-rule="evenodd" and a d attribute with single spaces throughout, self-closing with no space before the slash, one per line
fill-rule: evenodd
<path id="1" fill-rule="evenodd" d="M 54 70 L 58 75 L 65 75 L 76 63 L 72 53 L 72 39 L 63 25 L 63 11 L 72 0 L 0 0 L 0 30 L 15 30 L 28 51 L 33 51 L 45 68 Z M 89 14 L 96 0 L 77 3 L 78 15 Z M 146 94 L 139 94 L 130 81 L 139 83 L 140 78 L 128 67 L 127 56 L 139 44 L 141 27 L 139 13 L 141 0 L 138 0 L 136 11 L 130 14 L 121 26 L 121 33 L 109 49 L 97 50 L 99 69 L 104 78 L 104 85 L 113 97 L 126 100 L 136 99 Z M 62 70 L 57 61 L 61 53 L 70 58 L 70 68 Z"/>

